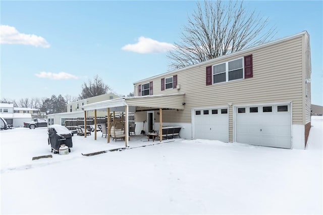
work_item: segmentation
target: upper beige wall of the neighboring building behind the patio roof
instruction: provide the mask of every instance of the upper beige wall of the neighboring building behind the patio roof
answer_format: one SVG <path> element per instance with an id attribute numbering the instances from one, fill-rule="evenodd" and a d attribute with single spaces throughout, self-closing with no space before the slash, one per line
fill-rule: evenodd
<path id="1" fill-rule="evenodd" d="M 117 96 L 116 94 L 113 94 L 113 93 L 107 93 L 107 94 L 103 94 L 103 95 L 99 95 L 99 96 L 90 97 L 87 99 L 82 99 L 82 100 L 79 100 L 76 102 L 71 102 L 71 103 L 67 104 L 67 112 L 80 111 L 80 110 L 82 110 L 83 105 L 87 105 L 87 104 L 91 104 L 91 103 L 95 103 L 95 102 L 101 102 L 101 101 L 105 101 L 105 100 L 117 99 L 117 98 L 120 98 L 120 97 Z M 82 103 L 83 103 L 83 105 L 82 105 Z M 72 106 L 72 108 L 71 108 L 71 106 Z"/>

